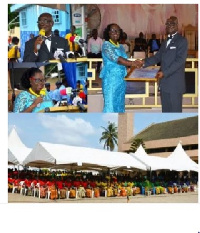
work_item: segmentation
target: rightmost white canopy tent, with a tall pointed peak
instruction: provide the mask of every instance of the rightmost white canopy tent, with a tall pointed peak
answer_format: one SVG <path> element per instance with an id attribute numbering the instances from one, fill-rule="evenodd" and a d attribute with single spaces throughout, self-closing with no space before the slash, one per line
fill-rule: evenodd
<path id="1" fill-rule="evenodd" d="M 167 157 L 168 163 L 175 171 L 196 171 L 198 172 L 198 164 L 195 163 L 184 151 L 181 143 L 179 142 L 174 152 Z"/>

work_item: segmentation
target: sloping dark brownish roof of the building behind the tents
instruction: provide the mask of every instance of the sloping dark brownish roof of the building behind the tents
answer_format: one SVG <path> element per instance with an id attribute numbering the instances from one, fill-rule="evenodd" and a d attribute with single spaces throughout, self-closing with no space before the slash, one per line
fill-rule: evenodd
<path id="1" fill-rule="evenodd" d="M 137 138 L 141 138 L 146 142 L 191 135 L 198 135 L 198 116 L 152 124 L 135 137 L 132 137 L 128 143 Z"/>

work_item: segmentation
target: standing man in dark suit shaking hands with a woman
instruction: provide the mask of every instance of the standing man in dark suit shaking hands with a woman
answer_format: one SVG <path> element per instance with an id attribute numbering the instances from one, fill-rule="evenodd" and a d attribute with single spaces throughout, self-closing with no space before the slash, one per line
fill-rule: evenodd
<path id="1" fill-rule="evenodd" d="M 160 81 L 162 112 L 182 112 L 187 40 L 178 33 L 177 17 L 171 16 L 165 25 L 167 40 L 153 57 L 146 58 L 142 64 L 148 67 L 161 63 L 157 78 Z"/>

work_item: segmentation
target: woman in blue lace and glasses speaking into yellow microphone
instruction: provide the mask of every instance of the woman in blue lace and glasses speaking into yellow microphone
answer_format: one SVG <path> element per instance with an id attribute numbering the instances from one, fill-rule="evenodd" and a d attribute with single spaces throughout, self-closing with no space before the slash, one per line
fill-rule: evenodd
<path id="1" fill-rule="evenodd" d="M 30 68 L 21 78 L 25 88 L 15 100 L 13 112 L 39 112 L 47 107 L 53 107 L 53 102 L 44 88 L 45 78 L 38 68 Z"/>

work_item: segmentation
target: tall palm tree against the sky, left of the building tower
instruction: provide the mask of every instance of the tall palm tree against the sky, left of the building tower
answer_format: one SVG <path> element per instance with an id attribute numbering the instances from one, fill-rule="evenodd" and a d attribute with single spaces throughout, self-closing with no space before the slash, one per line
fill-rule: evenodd
<path id="1" fill-rule="evenodd" d="M 105 131 L 102 132 L 102 136 L 99 139 L 99 142 L 105 141 L 104 149 L 113 151 L 115 149 L 115 145 L 117 145 L 117 127 L 115 123 L 108 122 L 108 127 L 101 127 Z"/>

